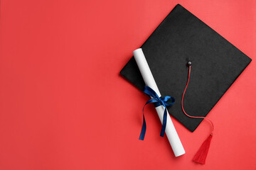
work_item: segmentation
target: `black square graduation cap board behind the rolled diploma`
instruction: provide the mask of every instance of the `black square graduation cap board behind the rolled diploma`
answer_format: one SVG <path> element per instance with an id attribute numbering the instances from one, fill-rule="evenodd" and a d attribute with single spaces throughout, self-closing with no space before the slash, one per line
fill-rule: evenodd
<path id="1" fill-rule="evenodd" d="M 191 132 L 203 119 L 188 118 L 181 108 L 188 79 L 187 62 L 191 61 L 192 66 L 183 106 L 188 115 L 201 117 L 210 112 L 251 62 L 237 47 L 179 4 L 144 42 L 142 50 L 161 95 L 176 99 L 168 108 L 169 113 Z M 143 91 L 145 84 L 134 57 L 120 73 Z"/>

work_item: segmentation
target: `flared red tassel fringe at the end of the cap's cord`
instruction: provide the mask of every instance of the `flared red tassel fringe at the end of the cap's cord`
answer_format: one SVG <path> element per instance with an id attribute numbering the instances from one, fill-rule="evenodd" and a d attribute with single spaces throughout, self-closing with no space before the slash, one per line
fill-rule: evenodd
<path id="1" fill-rule="evenodd" d="M 213 134 L 210 134 L 209 137 L 203 142 L 202 146 L 196 153 L 195 157 L 193 158 L 193 162 L 199 163 L 199 164 L 206 164 L 206 157 L 208 154 L 208 150 L 210 147 L 210 141 L 211 138 L 213 137 Z"/>

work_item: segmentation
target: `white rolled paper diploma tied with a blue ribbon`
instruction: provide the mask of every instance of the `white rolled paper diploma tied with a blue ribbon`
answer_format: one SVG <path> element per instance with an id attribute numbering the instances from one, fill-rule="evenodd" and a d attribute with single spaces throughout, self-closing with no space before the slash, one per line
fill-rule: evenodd
<path id="1" fill-rule="evenodd" d="M 142 48 L 134 50 L 133 55 L 137 62 L 139 71 L 142 74 L 142 77 L 144 79 L 146 86 L 149 86 L 151 89 L 156 91 L 156 94 L 160 97 L 161 96 L 160 91 L 156 86 L 156 81 L 154 81 L 154 77 L 149 69 L 149 65 L 146 62 L 146 58 L 142 52 Z M 164 106 L 156 107 L 156 112 L 158 113 L 161 123 L 163 124 Z M 171 148 L 174 151 L 175 157 L 185 154 L 185 150 L 184 150 L 184 148 L 181 144 L 181 140 L 179 139 L 178 134 L 174 128 L 174 123 L 172 123 L 171 117 L 170 117 L 168 111 L 167 111 L 167 123 L 166 123 L 165 132 L 166 132 L 166 136 L 171 144 Z"/>

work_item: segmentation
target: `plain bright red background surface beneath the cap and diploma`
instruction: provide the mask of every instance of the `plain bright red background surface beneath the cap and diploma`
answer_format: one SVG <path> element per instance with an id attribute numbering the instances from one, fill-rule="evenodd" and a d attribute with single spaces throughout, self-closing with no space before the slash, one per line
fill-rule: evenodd
<path id="1" fill-rule="evenodd" d="M 252 58 L 209 113 L 210 132 L 173 118 L 174 157 L 154 107 L 120 77 L 132 51 L 181 4 Z M 256 1 L 1 0 L 0 169 L 256 169 Z"/>

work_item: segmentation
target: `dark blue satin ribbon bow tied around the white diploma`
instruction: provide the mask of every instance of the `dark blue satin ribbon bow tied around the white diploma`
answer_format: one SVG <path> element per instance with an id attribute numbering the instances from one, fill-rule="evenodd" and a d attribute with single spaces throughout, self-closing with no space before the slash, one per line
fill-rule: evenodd
<path id="1" fill-rule="evenodd" d="M 166 108 L 166 106 L 173 105 L 174 102 L 175 102 L 175 99 L 171 96 L 159 97 L 156 94 L 156 91 L 151 89 L 149 86 L 145 86 L 144 93 L 151 96 L 151 99 L 149 99 L 149 101 L 146 101 L 146 104 L 144 105 L 143 110 L 142 110 L 143 111 L 143 125 L 142 125 L 142 132 L 139 135 L 139 140 L 144 140 L 144 137 L 145 137 L 146 120 L 145 120 L 145 117 L 144 117 L 144 108 L 149 103 L 154 103 L 155 107 L 158 107 L 158 106 L 161 106 L 161 105 L 164 106 L 163 125 L 162 125 L 161 133 L 160 133 L 160 136 L 164 137 L 164 132 L 165 132 L 166 123 L 167 123 L 167 108 Z M 167 101 L 169 101 L 169 100 L 171 100 L 171 103 L 167 103 Z"/>

